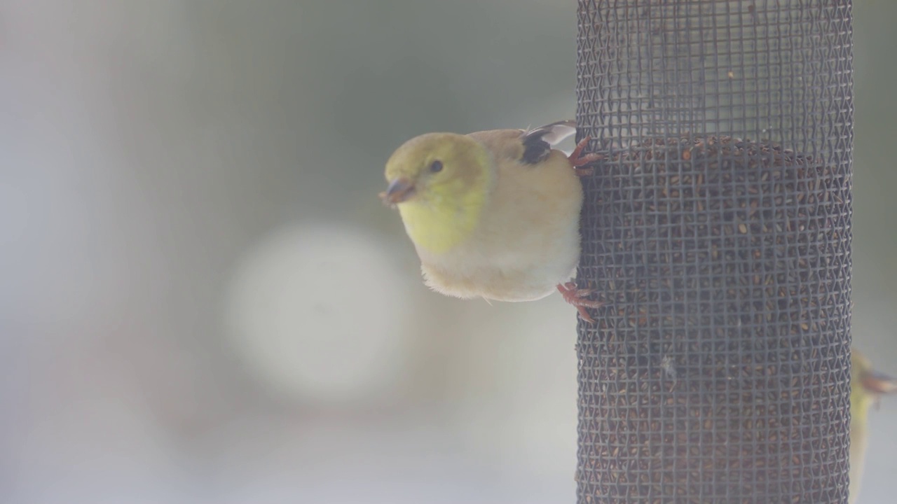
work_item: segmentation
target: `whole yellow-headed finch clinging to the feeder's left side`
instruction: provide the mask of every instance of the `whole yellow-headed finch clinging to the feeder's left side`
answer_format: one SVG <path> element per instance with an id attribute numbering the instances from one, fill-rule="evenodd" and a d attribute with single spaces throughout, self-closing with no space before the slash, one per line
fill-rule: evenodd
<path id="1" fill-rule="evenodd" d="M 597 154 L 568 157 L 553 145 L 573 121 L 531 130 L 412 138 L 387 161 L 384 203 L 398 207 L 424 282 L 462 299 L 539 300 L 555 289 L 592 322 L 588 289 L 570 279 L 579 263 L 579 177 Z"/>

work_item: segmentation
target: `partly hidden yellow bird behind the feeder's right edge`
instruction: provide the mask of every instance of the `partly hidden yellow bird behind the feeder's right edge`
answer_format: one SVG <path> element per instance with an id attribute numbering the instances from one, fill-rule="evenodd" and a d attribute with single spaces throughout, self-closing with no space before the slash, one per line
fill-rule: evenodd
<path id="1" fill-rule="evenodd" d="M 863 461 L 869 442 L 869 408 L 878 397 L 897 391 L 897 379 L 872 369 L 872 363 L 856 349 L 850 351 L 850 504 L 857 501 Z"/>

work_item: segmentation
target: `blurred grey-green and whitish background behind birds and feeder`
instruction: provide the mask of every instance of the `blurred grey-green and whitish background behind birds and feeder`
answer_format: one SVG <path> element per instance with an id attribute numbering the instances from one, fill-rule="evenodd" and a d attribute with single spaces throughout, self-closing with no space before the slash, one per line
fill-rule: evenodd
<path id="1" fill-rule="evenodd" d="M 854 341 L 897 374 L 897 4 L 854 13 Z M 431 293 L 377 193 L 411 136 L 573 117 L 575 38 L 561 0 L 0 3 L 0 501 L 573 502 L 575 310 Z"/>

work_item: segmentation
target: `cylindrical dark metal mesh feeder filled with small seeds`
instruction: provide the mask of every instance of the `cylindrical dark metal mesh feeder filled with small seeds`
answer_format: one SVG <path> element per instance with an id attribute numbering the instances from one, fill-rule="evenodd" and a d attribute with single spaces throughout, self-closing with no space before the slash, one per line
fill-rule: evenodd
<path id="1" fill-rule="evenodd" d="M 846 502 L 843 0 L 579 0 L 580 503 Z"/>

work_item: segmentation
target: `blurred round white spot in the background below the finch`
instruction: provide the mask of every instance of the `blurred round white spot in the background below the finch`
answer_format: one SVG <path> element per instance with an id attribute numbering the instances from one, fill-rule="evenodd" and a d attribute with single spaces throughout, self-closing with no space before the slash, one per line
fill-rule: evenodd
<path id="1" fill-rule="evenodd" d="M 274 392 L 376 401 L 407 369 L 410 282 L 388 243 L 350 227 L 279 230 L 237 266 L 226 322 L 236 352 Z"/>

